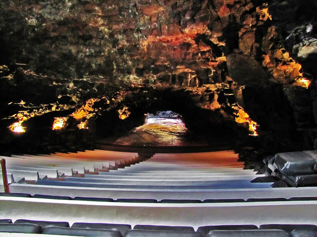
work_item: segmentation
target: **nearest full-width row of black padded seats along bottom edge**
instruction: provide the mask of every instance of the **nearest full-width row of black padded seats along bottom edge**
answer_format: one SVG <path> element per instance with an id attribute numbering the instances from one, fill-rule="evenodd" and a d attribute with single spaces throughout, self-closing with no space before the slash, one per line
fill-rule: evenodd
<path id="1" fill-rule="evenodd" d="M 259 227 L 245 225 L 200 226 L 197 231 L 191 226 L 160 226 L 76 222 L 34 221 L 19 219 L 0 220 L 2 236 L 24 236 L 16 233 L 32 233 L 36 236 L 108 236 L 108 237 L 310 237 L 317 232 L 316 225 L 307 224 L 263 224 Z M 6 232 L 3 235 L 3 232 Z M 9 234 L 11 232 L 11 234 Z M 14 234 L 13 234 L 14 233 Z M 40 234 L 43 235 L 40 235 Z"/>

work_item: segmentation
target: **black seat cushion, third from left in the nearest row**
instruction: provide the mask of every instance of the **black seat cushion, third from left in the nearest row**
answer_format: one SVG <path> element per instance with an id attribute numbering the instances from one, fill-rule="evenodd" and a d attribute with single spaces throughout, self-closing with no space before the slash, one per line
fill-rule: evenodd
<path id="1" fill-rule="evenodd" d="M 194 231 L 128 230 L 124 237 L 203 237 Z"/>

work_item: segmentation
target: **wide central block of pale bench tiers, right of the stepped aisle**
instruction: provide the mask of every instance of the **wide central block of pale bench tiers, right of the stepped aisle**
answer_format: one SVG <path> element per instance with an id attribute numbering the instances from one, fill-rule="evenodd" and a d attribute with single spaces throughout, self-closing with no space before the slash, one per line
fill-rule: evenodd
<path id="1" fill-rule="evenodd" d="M 87 151 L 96 154 L 100 161 L 102 151 Z M 60 162 L 71 162 L 65 155 Z M 136 155 L 127 155 L 128 161 Z M 46 156 L 42 156 L 48 158 Z M 131 158 L 132 157 L 132 158 Z M 134 157 L 134 158 L 133 158 Z M 20 159 L 20 158 L 16 158 Z M 35 158 L 36 162 L 39 159 Z M 69 161 L 70 159 L 70 161 Z M 262 177 L 251 170 L 243 170 L 243 163 L 238 162 L 238 154 L 233 151 L 156 154 L 139 164 L 117 170 L 95 169 L 91 157 L 85 162 L 93 166 L 94 174 L 86 173 L 84 177 L 66 177 L 62 180 L 41 179 L 33 183 L 14 183 L 11 192 L 60 195 L 74 197 L 131 198 L 140 199 L 244 199 L 249 198 L 289 198 L 316 195 L 317 190 L 306 188 L 294 192 L 292 189 L 273 189 L 272 183 L 251 183 L 252 179 Z M 230 161 L 228 163 L 228 161 Z M 47 161 L 42 161 L 47 162 Z M 74 161 L 75 162 L 75 161 Z M 76 161 L 77 162 L 77 161 Z M 105 162 L 105 161 L 102 161 Z M 121 162 L 121 161 L 120 161 Z M 62 163 L 64 164 L 64 163 Z M 120 163 L 121 164 L 121 163 Z M 73 165 L 73 164 L 71 164 Z M 56 163 L 58 168 L 60 163 Z M 98 174 L 98 175 L 97 175 Z M 77 175 L 78 176 L 78 175 Z M 233 180 L 234 179 L 234 180 Z"/>

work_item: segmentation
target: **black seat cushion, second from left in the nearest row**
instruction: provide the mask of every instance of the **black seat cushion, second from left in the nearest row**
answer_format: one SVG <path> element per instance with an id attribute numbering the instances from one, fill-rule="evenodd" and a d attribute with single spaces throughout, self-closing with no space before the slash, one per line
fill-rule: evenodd
<path id="1" fill-rule="evenodd" d="M 119 231 L 105 229 L 82 229 L 71 227 L 48 227 L 43 234 L 59 234 L 87 237 L 122 237 Z"/>

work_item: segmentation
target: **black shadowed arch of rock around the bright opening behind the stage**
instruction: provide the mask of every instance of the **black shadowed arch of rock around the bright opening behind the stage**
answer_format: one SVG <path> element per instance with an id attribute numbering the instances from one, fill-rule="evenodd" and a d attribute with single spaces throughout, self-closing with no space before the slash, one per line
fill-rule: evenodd
<path id="1" fill-rule="evenodd" d="M 104 141 L 111 143 L 120 136 L 125 136 L 127 131 L 143 125 L 145 114 L 173 111 L 182 116 L 186 128 L 193 136 L 197 136 L 197 139 L 204 138 L 205 143 L 211 146 L 232 144 L 233 137 L 238 137 L 235 123 L 233 121 L 225 122 L 220 111 L 198 107 L 194 100 L 195 98 L 185 90 L 145 88 L 142 93 L 132 93 L 121 101 L 121 104 L 126 106 L 130 113 L 127 118 L 120 119 L 118 109 L 103 112 L 96 119 L 96 136 L 101 139 L 110 137 Z M 192 140 L 192 143 L 195 141 Z"/>

